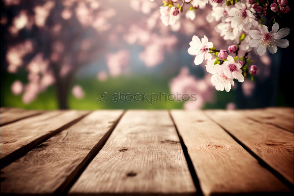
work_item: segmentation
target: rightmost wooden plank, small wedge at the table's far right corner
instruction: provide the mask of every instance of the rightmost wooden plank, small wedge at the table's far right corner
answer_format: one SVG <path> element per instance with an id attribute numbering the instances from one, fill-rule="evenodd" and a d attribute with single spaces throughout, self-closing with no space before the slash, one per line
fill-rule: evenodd
<path id="1" fill-rule="evenodd" d="M 293 110 L 292 110 L 293 111 Z M 248 109 L 239 110 L 248 118 L 265 124 L 271 124 L 281 129 L 293 132 L 293 114 L 277 109 Z"/>

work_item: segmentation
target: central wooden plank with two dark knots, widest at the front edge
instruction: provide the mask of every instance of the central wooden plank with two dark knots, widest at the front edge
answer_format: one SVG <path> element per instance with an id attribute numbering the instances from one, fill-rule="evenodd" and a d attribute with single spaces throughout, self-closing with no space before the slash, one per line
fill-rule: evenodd
<path id="1" fill-rule="evenodd" d="M 193 194 L 176 129 L 167 111 L 126 112 L 70 194 Z"/>

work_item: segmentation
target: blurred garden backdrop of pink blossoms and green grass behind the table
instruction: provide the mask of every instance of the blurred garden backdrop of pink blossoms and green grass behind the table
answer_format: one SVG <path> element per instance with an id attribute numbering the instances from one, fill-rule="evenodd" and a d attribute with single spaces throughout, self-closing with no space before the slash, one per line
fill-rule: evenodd
<path id="1" fill-rule="evenodd" d="M 44 6 L 48 2 L 51 2 L 50 9 Z M 38 23 L 38 17 L 44 18 L 36 14 L 38 6 L 49 9 L 45 9 L 48 16 L 43 25 Z M 226 49 L 230 45 L 218 33 L 213 33 L 213 24 L 206 22 L 209 10 L 198 11 L 198 21 L 183 19 L 183 24 L 190 26 L 175 30 L 162 25 L 158 6 L 158 2 L 149 0 L 1 1 L 1 107 L 234 109 L 293 106 L 293 33 L 286 37 L 290 46 L 279 48 L 275 55 L 268 53 L 266 58 L 260 59 L 256 52 L 251 54 L 254 64 L 258 65 L 253 83 L 247 79 L 229 93 L 219 92 L 209 84 L 210 76 L 205 75 L 204 64 L 194 65 L 194 57 L 187 53 L 194 34 L 207 35 L 216 48 Z M 112 15 L 108 16 L 110 12 Z M 280 20 L 279 24 L 281 28 L 290 27 L 293 32 L 292 10 L 288 16 L 290 22 Z M 52 32 L 54 28 L 59 28 L 57 35 Z M 32 45 L 31 51 L 19 48 L 19 44 L 27 40 Z M 16 51 L 16 57 L 11 51 Z M 17 56 L 20 53 L 24 55 Z M 34 60 L 38 54 L 41 60 Z M 21 63 L 17 62 L 19 58 Z M 45 68 L 36 71 L 34 66 Z M 67 72 L 62 75 L 64 70 Z M 175 91 L 196 93 L 199 99 L 186 106 L 183 101 L 153 104 L 148 101 L 97 101 L 105 92 L 110 98 L 112 93 L 118 92 L 169 94 Z"/>

